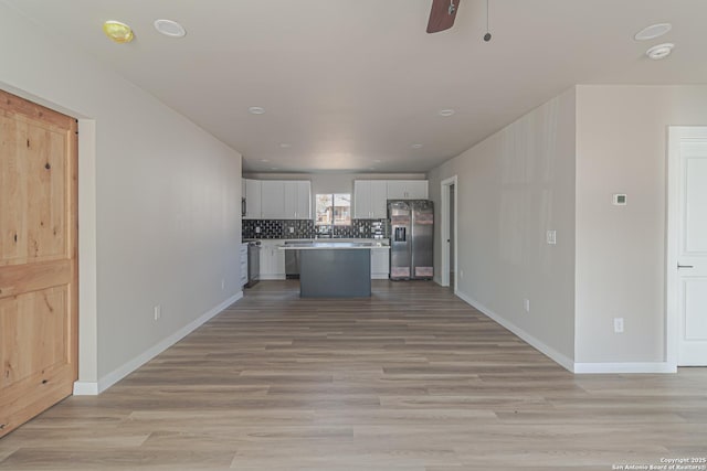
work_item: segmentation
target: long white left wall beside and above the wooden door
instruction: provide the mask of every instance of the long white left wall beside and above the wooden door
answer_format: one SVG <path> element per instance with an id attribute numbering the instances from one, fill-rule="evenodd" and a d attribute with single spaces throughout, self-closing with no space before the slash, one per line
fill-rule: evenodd
<path id="1" fill-rule="evenodd" d="M 95 125 L 80 148 L 80 236 L 95 237 L 80 256 L 96 272 L 80 283 L 95 335 L 80 366 L 95 370 L 80 382 L 102 388 L 241 293 L 241 156 L 2 3 L 0 49 L 0 87 Z"/>

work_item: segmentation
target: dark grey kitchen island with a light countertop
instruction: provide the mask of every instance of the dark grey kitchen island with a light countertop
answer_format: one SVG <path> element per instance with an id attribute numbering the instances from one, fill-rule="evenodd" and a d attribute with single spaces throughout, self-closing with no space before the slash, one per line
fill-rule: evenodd
<path id="1" fill-rule="evenodd" d="M 371 296 L 371 250 L 389 250 L 381 243 L 312 242 L 282 245 L 299 250 L 302 298 L 366 298 Z"/>

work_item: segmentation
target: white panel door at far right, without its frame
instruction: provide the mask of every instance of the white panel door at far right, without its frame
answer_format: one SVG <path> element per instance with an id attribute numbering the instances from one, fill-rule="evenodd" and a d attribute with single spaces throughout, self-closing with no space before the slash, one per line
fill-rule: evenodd
<path id="1" fill-rule="evenodd" d="M 677 364 L 707 365 L 707 136 L 679 140 Z"/>

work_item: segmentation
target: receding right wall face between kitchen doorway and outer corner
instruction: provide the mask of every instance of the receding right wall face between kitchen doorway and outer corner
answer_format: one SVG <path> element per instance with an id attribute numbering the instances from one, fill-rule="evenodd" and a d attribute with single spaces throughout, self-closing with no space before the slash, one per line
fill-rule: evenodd
<path id="1" fill-rule="evenodd" d="M 574 356 L 574 89 L 429 173 L 457 175 L 458 295 L 566 366 Z M 442 254 L 435 215 L 435 271 Z M 557 231 L 547 245 L 546 231 Z M 530 313 L 524 299 L 530 300 Z"/>

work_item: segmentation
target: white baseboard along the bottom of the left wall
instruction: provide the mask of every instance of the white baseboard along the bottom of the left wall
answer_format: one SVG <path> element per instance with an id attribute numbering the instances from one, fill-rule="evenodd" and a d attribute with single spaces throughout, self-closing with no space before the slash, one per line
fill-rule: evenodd
<path id="1" fill-rule="evenodd" d="M 213 318 L 214 315 L 217 315 L 218 313 L 220 313 L 225 308 L 228 308 L 229 306 L 233 304 L 235 301 L 238 301 L 241 298 L 243 298 L 243 291 L 236 292 L 231 298 L 229 298 L 225 301 L 221 302 L 219 306 L 210 309 L 208 312 L 205 312 L 204 314 L 202 314 L 198 319 L 194 319 L 193 321 L 191 321 L 190 323 L 188 323 L 183 328 L 179 329 L 177 332 L 175 332 L 173 334 L 169 335 L 167 339 L 162 340 L 161 342 L 159 342 L 155 346 L 151 346 L 150 349 L 148 349 L 147 351 L 143 352 L 141 354 L 139 354 L 135 358 L 130 360 L 129 362 L 127 362 L 124 365 L 117 367 L 116 370 L 114 370 L 113 372 L 108 373 L 107 375 L 103 376 L 102 378 L 98 379 L 97 383 L 81 382 L 81 381 L 75 382 L 74 383 L 74 395 L 76 395 L 76 396 L 96 396 L 96 395 L 103 393 L 104 390 L 106 390 L 107 388 L 109 388 L 110 386 L 113 386 L 114 384 L 116 384 L 117 382 L 123 379 L 124 377 L 126 377 L 128 374 L 133 373 L 135 370 L 139 368 L 145 363 L 149 362 L 155 356 L 159 355 L 165 350 L 169 349 L 175 343 L 179 342 L 184 336 L 189 335 L 191 332 L 197 330 L 201 324 L 203 324 L 204 322 L 207 322 L 208 320 L 210 320 L 211 318 Z"/>

